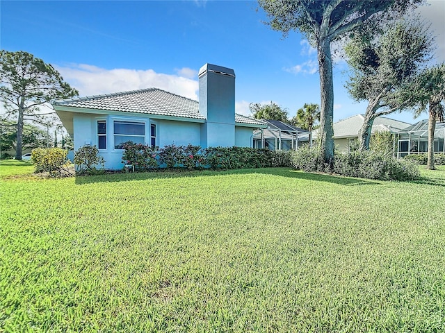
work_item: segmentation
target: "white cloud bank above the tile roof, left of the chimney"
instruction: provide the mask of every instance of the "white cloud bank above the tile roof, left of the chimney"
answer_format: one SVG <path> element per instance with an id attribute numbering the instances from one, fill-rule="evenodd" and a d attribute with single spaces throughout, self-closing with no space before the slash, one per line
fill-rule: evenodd
<path id="1" fill-rule="evenodd" d="M 56 69 L 67 83 L 79 90 L 81 96 L 155 87 L 197 100 L 197 80 L 184 76 L 156 73 L 152 69 L 104 69 L 85 64 L 58 66 Z M 179 71 L 191 74 L 192 69 Z"/>

